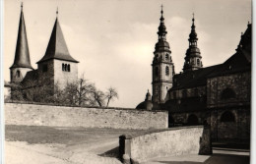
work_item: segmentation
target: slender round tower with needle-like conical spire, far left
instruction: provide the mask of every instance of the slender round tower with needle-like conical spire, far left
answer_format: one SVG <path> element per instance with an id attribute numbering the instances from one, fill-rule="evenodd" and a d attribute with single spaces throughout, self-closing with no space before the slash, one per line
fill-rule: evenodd
<path id="1" fill-rule="evenodd" d="M 22 82 L 26 74 L 32 71 L 29 44 L 23 14 L 23 4 L 21 6 L 21 17 L 18 30 L 18 38 L 15 51 L 15 59 L 10 67 L 11 82 Z"/>

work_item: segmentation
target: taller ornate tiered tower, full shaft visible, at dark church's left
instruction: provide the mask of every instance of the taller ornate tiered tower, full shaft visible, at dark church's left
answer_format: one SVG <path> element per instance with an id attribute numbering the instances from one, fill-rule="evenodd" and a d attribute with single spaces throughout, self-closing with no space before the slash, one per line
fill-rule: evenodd
<path id="1" fill-rule="evenodd" d="M 153 73 L 153 101 L 164 103 L 168 89 L 172 86 L 174 75 L 174 65 L 171 59 L 169 43 L 166 41 L 166 27 L 162 16 L 162 6 L 160 11 L 159 41 L 155 46 L 154 60 L 152 64 Z"/>

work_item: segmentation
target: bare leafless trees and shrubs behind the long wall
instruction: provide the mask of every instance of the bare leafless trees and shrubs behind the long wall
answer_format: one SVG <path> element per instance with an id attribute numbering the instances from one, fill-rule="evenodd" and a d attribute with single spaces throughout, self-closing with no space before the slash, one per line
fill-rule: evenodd
<path id="1" fill-rule="evenodd" d="M 108 107 L 111 100 L 118 98 L 118 94 L 113 87 L 109 87 L 106 92 L 103 92 L 82 76 L 76 82 L 68 82 L 64 89 L 59 87 L 58 82 L 52 85 L 51 82 L 43 78 L 27 80 L 12 87 L 12 98 L 62 105 Z"/>

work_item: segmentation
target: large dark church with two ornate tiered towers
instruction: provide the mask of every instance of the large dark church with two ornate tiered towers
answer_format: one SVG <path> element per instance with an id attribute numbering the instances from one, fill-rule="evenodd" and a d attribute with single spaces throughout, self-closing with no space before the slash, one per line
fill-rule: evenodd
<path id="1" fill-rule="evenodd" d="M 183 73 L 175 74 L 162 14 L 161 10 L 152 63 L 153 96 L 148 92 L 137 109 L 167 110 L 169 127 L 211 125 L 215 140 L 249 141 L 251 24 L 242 33 L 235 54 L 222 64 L 204 68 L 193 17 Z"/>

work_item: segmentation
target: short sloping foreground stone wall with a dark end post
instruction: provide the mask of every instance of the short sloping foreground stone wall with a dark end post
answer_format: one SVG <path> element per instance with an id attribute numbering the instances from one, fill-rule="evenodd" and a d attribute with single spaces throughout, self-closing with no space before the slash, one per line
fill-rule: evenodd
<path id="1" fill-rule="evenodd" d="M 148 131 L 119 137 L 119 156 L 137 164 L 151 158 L 184 154 L 211 154 L 210 128 L 203 126 Z"/>

